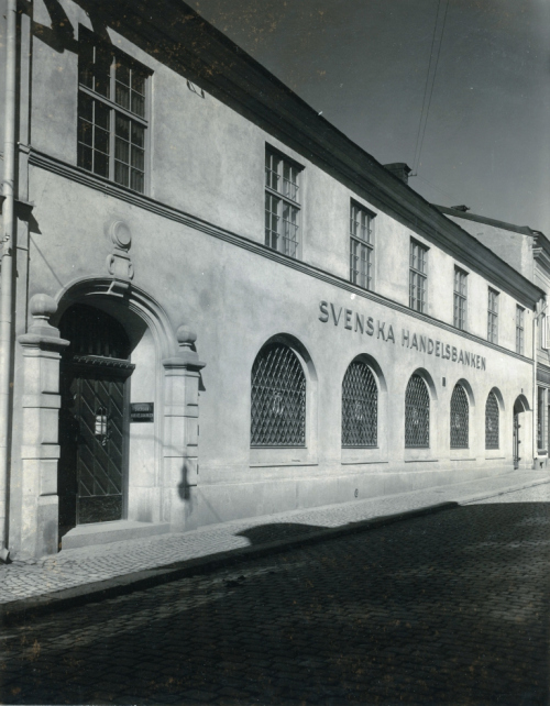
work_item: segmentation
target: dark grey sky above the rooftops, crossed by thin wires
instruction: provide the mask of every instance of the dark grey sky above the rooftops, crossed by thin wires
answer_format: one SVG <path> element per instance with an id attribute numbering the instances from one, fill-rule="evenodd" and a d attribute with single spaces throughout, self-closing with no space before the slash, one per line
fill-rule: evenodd
<path id="1" fill-rule="evenodd" d="M 378 162 L 410 166 L 439 8 L 409 184 L 550 236 L 550 0 L 448 0 L 444 26 L 447 0 L 189 3 Z"/>

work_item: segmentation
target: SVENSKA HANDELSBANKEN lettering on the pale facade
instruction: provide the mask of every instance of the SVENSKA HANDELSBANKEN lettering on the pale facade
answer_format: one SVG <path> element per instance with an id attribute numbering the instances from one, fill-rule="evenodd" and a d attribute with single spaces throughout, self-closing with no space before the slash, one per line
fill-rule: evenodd
<path id="1" fill-rule="evenodd" d="M 343 307 L 334 307 L 333 304 L 328 301 L 319 304 L 319 321 L 322 323 L 331 320 L 334 326 L 340 326 L 341 323 L 344 329 L 350 331 L 354 330 L 365 335 L 376 335 L 377 339 L 395 344 L 394 328 L 391 323 L 386 326 L 385 321 L 373 319 L 373 317 L 365 318 L 362 313 L 356 313 Z M 402 345 L 407 349 L 416 349 L 420 353 L 427 353 L 428 355 L 437 355 L 453 363 L 476 367 L 479 371 L 486 368 L 486 362 L 482 355 L 469 353 L 458 349 L 455 345 L 443 343 L 438 339 L 430 339 L 427 335 L 411 334 L 408 329 L 402 329 Z"/>

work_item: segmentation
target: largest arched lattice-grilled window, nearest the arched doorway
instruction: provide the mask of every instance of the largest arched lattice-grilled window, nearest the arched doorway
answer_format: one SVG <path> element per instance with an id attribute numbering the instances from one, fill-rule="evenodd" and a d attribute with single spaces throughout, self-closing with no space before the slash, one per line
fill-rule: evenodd
<path id="1" fill-rule="evenodd" d="M 251 445 L 306 445 L 306 376 L 283 343 L 265 345 L 252 366 Z"/>

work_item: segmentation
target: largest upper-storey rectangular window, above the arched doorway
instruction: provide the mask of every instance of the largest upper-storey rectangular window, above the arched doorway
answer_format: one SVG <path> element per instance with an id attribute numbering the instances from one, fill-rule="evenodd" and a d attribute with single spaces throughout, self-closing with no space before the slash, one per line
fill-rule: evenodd
<path id="1" fill-rule="evenodd" d="M 78 166 L 143 194 L 150 71 L 85 32 L 78 56 Z"/>

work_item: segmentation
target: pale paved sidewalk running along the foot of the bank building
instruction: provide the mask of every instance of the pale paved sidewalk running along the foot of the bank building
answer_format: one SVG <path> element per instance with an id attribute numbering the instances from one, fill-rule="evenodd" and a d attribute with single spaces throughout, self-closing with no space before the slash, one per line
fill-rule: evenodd
<path id="1" fill-rule="evenodd" d="M 31 599 L 59 595 L 65 589 L 97 586 L 117 577 L 193 560 L 250 551 L 311 537 L 327 529 L 345 528 L 399 512 L 429 508 L 441 503 L 466 504 L 513 489 L 550 483 L 549 471 L 515 471 L 496 477 L 453 486 L 432 487 L 398 495 L 309 510 L 226 522 L 185 533 L 169 533 L 143 540 L 64 550 L 54 556 L 0 564 L 0 606 L 18 609 Z M 90 588 L 91 589 L 91 588 Z M 82 593 L 82 592 L 80 592 Z"/>

